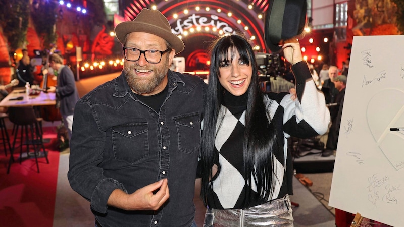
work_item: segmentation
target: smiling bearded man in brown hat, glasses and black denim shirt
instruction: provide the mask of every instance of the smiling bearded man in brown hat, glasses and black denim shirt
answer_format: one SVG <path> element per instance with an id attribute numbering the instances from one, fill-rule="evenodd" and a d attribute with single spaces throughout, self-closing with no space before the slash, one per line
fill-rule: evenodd
<path id="1" fill-rule="evenodd" d="M 68 178 L 97 226 L 196 226 L 204 81 L 169 70 L 184 49 L 157 10 L 115 28 L 120 76 L 75 107 Z"/>

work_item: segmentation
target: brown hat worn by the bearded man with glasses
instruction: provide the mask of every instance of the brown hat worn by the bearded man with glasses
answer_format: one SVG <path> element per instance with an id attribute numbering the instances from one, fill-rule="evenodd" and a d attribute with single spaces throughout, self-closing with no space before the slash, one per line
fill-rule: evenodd
<path id="1" fill-rule="evenodd" d="M 176 54 L 184 49 L 184 43 L 171 32 L 170 23 L 158 10 L 144 8 L 133 21 L 125 21 L 115 27 L 115 35 L 122 44 L 125 42 L 125 36 L 131 32 L 146 32 L 157 35 L 168 41 L 175 49 Z"/>

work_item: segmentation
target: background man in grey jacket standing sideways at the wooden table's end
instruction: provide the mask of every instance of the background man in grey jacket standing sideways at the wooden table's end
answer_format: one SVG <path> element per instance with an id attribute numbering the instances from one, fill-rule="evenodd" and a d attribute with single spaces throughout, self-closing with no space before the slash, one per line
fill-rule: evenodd
<path id="1" fill-rule="evenodd" d="M 63 65 L 63 58 L 57 53 L 53 53 L 49 56 L 49 67 L 51 67 L 54 72 L 57 72 L 58 77 L 56 82 L 57 86 L 50 86 L 47 92 L 56 93 L 57 107 L 60 108 L 63 123 L 70 139 L 72 138 L 74 106 L 79 99 L 74 74 L 69 67 Z M 43 70 L 43 74 L 47 73 L 47 69 Z"/>

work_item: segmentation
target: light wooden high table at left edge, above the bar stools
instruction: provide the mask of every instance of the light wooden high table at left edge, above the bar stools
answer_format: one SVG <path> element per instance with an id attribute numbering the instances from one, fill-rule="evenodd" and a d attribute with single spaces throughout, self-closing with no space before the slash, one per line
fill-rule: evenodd
<path id="1" fill-rule="evenodd" d="M 13 100 L 22 98 L 21 100 Z M 24 90 L 13 90 L 1 102 L 0 107 L 22 107 L 38 105 L 55 105 L 55 93 L 45 93 L 41 91 L 38 95 L 27 95 Z"/>

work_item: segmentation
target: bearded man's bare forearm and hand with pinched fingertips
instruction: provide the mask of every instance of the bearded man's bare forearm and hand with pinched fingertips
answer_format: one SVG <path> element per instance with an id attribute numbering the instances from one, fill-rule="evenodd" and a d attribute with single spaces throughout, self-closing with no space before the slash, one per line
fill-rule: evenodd
<path id="1" fill-rule="evenodd" d="M 132 194 L 115 189 L 108 199 L 107 205 L 123 210 L 158 210 L 170 197 L 167 179 L 162 179 Z"/>

